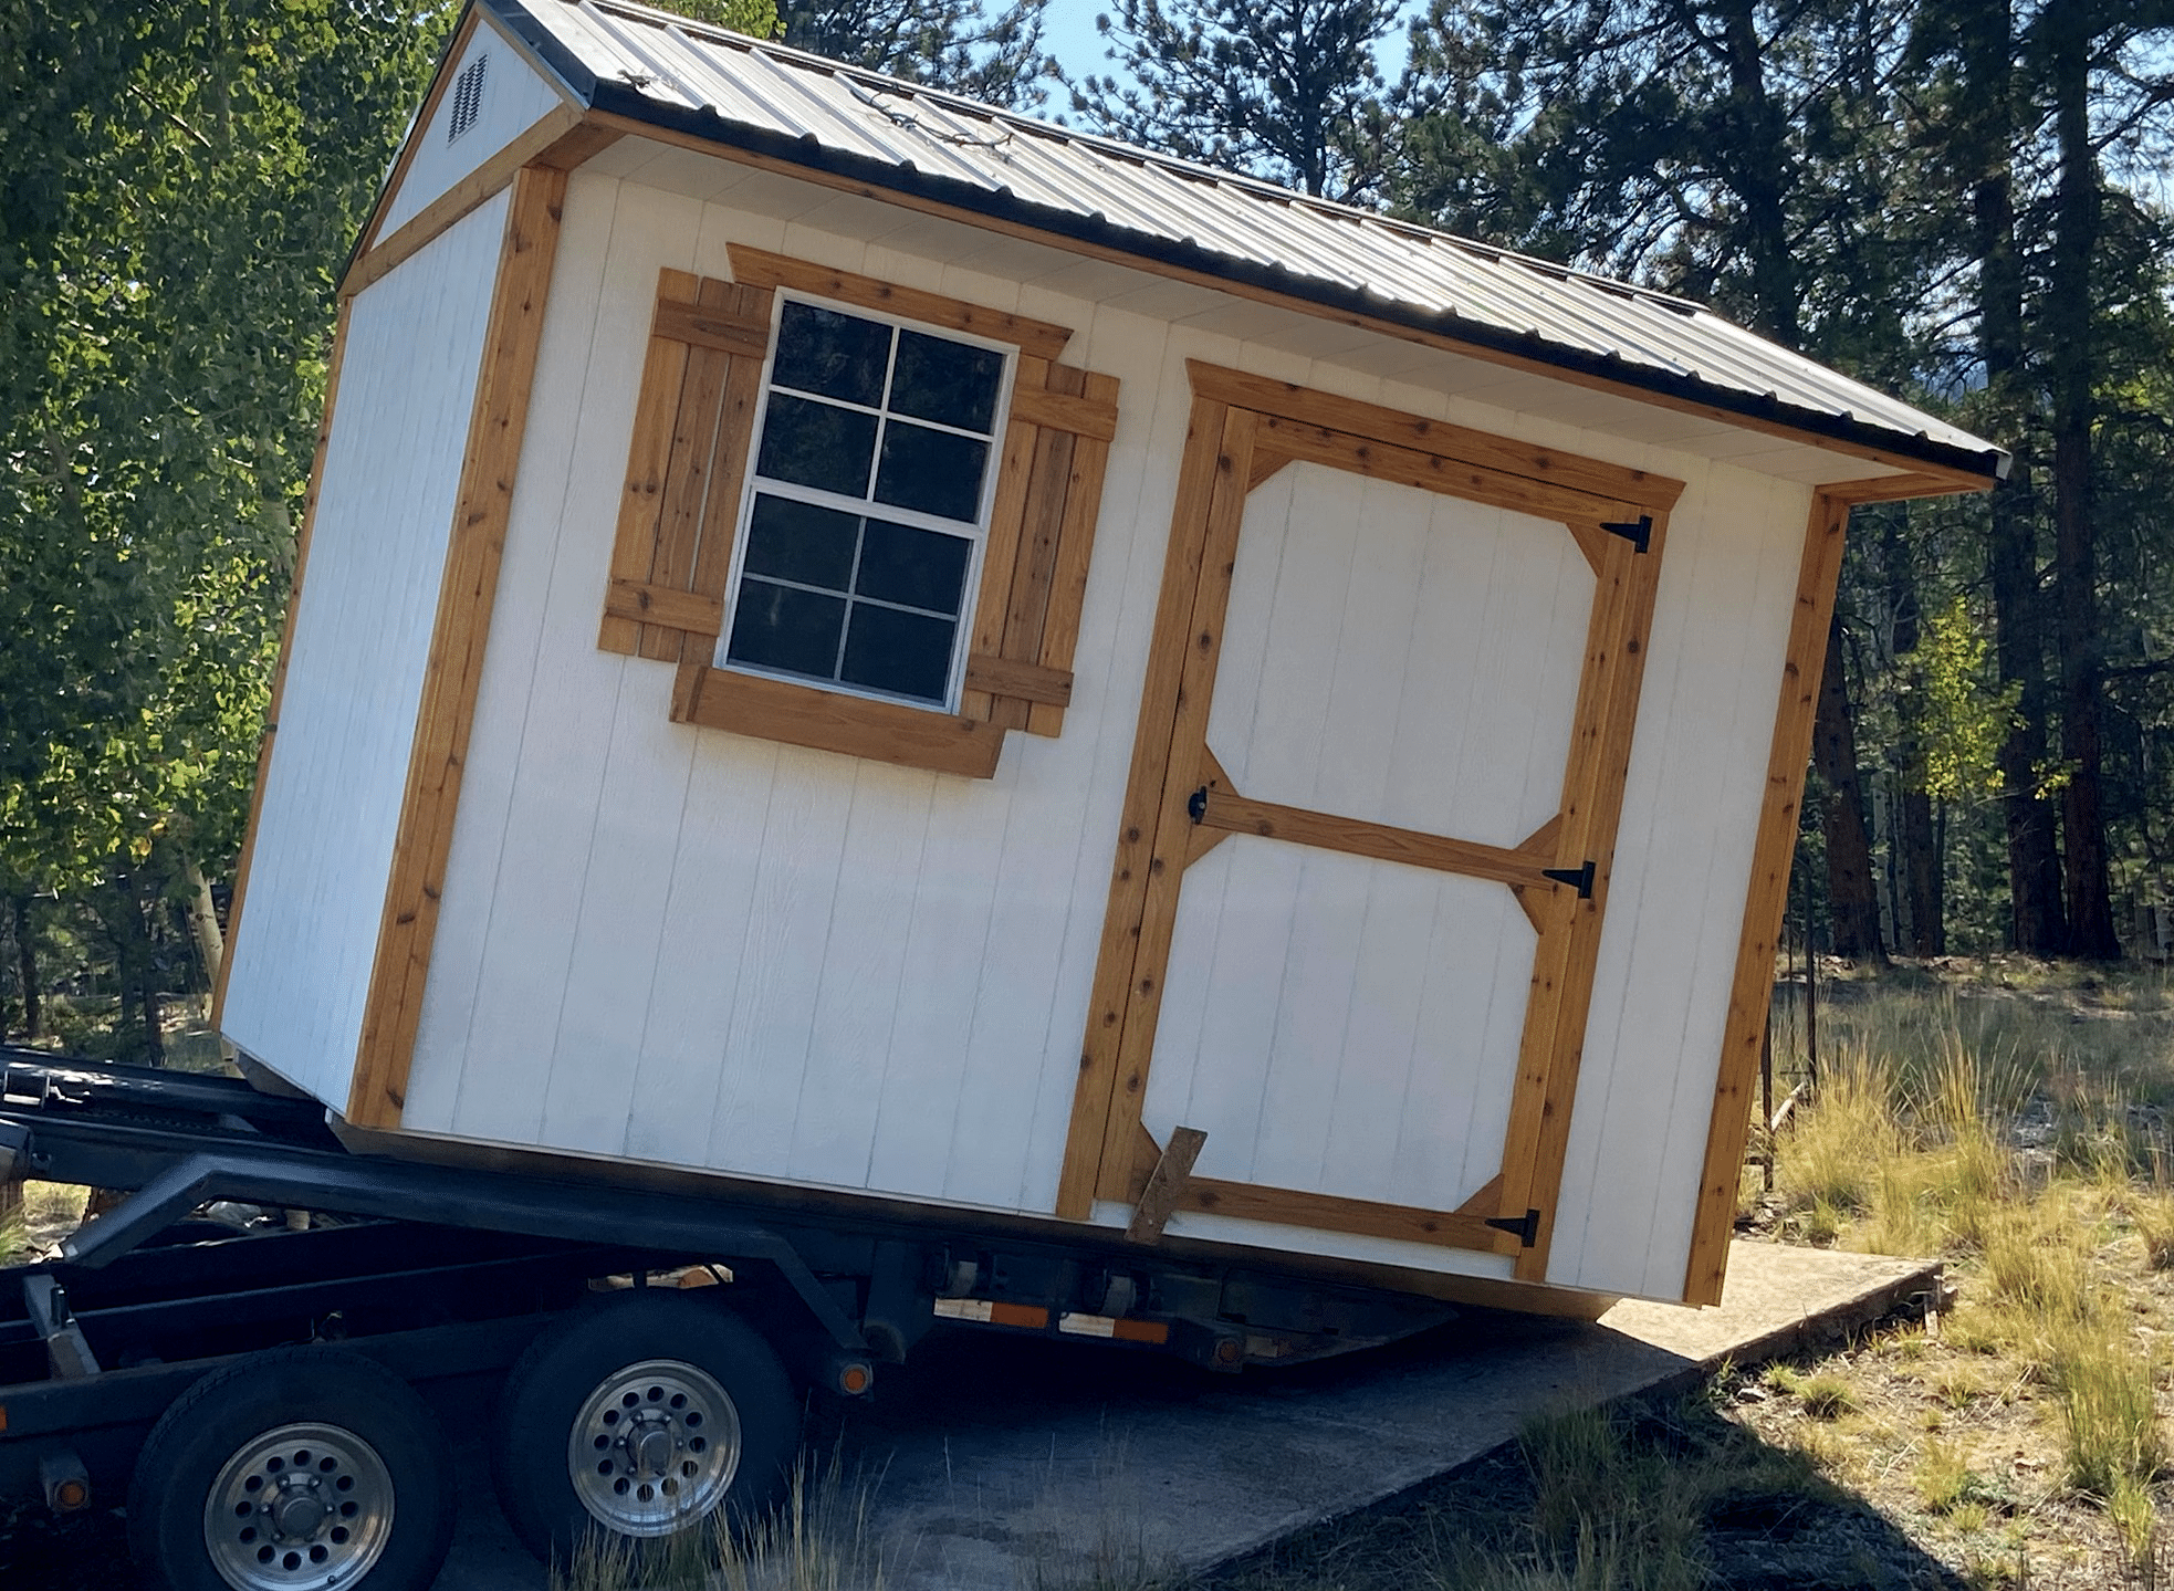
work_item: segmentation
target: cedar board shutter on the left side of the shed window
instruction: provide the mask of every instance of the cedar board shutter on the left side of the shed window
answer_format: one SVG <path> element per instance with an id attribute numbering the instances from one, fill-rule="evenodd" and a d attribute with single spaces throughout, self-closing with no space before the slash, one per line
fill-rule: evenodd
<path id="1" fill-rule="evenodd" d="M 767 287 L 661 272 L 596 643 L 709 663 L 770 348 Z"/>

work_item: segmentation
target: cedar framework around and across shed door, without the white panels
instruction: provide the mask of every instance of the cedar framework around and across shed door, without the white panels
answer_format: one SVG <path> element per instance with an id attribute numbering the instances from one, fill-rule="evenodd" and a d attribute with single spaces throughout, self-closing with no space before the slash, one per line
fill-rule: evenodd
<path id="1" fill-rule="evenodd" d="M 1111 902 L 1057 1213 L 1087 1219 L 1096 1200 L 1135 1206 L 1133 1237 L 1174 1211 L 1363 1232 L 1515 1254 L 1546 1276 L 1554 1193 L 1570 1143 L 1585 1015 L 1622 813 L 1630 730 L 1659 587 L 1667 513 L 1681 480 L 1400 413 L 1352 398 L 1187 361 L 1191 424 L 1178 469 L 1163 589 L 1148 648 Z M 1500 850 L 1380 824 L 1252 802 L 1207 750 L 1246 498 L 1294 461 L 1511 509 L 1563 524 L 1594 569 L 1561 811 Z M 1202 800 L 1202 791 L 1207 798 Z M 1363 832 L 1361 832 L 1363 830 Z M 1494 878 L 1537 930 L 1502 1174 L 1459 1211 L 1426 1211 L 1191 1176 L 1200 1135 L 1159 1143 L 1141 1122 L 1148 1063 L 1185 867 L 1228 832 L 1411 861 Z M 1591 872 L 1576 885 L 1561 874 Z M 1554 869 L 1557 876 L 1548 876 Z M 1535 1013 L 1541 1013 L 1535 1019 Z M 1530 1215 L 1528 1215 L 1530 1213 Z M 1509 1230 L 1507 1230 L 1509 1228 Z"/>

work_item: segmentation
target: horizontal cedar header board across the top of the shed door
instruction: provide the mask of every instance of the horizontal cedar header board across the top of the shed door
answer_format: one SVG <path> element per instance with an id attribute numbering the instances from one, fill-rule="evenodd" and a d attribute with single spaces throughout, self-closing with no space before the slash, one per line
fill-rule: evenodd
<path id="1" fill-rule="evenodd" d="M 1613 465 L 1602 459 L 1587 459 L 1561 448 L 1515 441 L 1491 430 L 1474 430 L 1448 419 L 1428 419 L 1400 409 L 1383 409 L 1357 398 L 1337 398 L 1315 387 L 1272 380 L 1244 369 L 1226 369 L 1202 359 L 1187 359 L 1185 369 L 1191 376 L 1194 391 L 1226 402 L 1233 409 L 1252 409 L 1254 413 L 1274 415 L 1285 422 L 1283 426 L 1272 424 L 1267 428 L 1265 446 L 1278 452 L 1285 450 L 1287 435 L 1302 435 L 1307 426 L 1313 426 L 1341 437 L 1387 443 L 1422 459 L 1485 465 L 1507 476 L 1561 487 L 1578 493 L 1578 498 L 1598 498 L 1600 502 L 1630 502 L 1641 509 L 1667 511 L 1683 496 L 1685 483 L 1681 480 Z M 1335 452 L 1350 456 L 1354 450 L 1350 443 L 1344 443 Z M 1430 489 L 1444 491 L 1452 487 Z"/>

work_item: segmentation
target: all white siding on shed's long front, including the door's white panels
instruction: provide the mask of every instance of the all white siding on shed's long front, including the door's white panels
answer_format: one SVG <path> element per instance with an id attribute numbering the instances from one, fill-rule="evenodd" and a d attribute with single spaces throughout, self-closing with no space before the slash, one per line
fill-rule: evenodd
<path id="1" fill-rule="evenodd" d="M 735 183 L 765 213 L 735 211 Z M 407 1126 L 1052 1208 L 1198 356 L 1691 480 L 1557 1237 L 1561 1282 L 1674 1293 L 1804 491 L 1170 326 L 1137 313 L 1148 300 L 826 233 L 791 217 L 791 191 L 759 174 L 720 176 L 711 202 L 572 180 Z M 809 215 L 826 204 L 809 189 Z M 896 235 L 915 226 L 900 213 Z M 1074 326 L 1067 359 L 1124 383 L 1065 732 L 1011 735 L 991 780 L 674 726 L 667 665 L 596 650 L 657 272 L 726 276 L 735 239 Z M 1280 524 L 1257 539 L 1276 554 L 1265 585 L 1239 580 L 1233 611 L 1257 624 L 1250 652 L 1233 626 L 1211 728 L 1239 787 L 1494 843 L 1544 822 L 1591 600 L 1567 533 L 1300 465 L 1263 489 L 1248 537 L 1257 519 Z M 1315 535 L 1352 522 L 1365 556 Z M 1287 635 L 1328 667 L 1278 652 Z M 1226 906 L 1261 891 L 1280 917 Z M 1185 891 L 1180 954 L 1207 976 L 1191 993 L 1172 978 L 1150 1126 L 1209 1126 L 1215 1174 L 1454 1204 L 1500 1158 L 1509 1067 L 1472 1056 L 1513 1054 L 1530 939 L 1500 887 L 1235 837 Z M 1254 998 L 1217 993 L 1222 969 Z M 1346 1065 L 1302 1065 L 1320 1048 Z M 1194 1069 L 1207 1054 L 1257 1074 Z M 1222 1161 L 1241 1141 L 1244 1169 Z M 1504 1267 L 1217 1217 L 1180 1230 Z"/>

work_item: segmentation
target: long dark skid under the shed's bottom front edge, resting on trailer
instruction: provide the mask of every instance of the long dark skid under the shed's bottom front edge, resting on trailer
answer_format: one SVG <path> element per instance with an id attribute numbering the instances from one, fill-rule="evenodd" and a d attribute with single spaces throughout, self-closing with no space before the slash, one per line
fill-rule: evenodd
<path id="1" fill-rule="evenodd" d="M 1072 1254 L 1107 1256 L 1115 1269 L 1139 1265 L 1137 1243 L 1124 1228 L 1080 1228 L 1048 1215 L 994 1211 L 989 1206 L 952 1206 L 907 1200 L 891 1193 L 826 1189 L 804 1182 L 767 1182 L 730 1172 L 702 1172 L 661 1161 L 622 1161 L 617 1156 L 537 1150 L 513 1143 L 483 1143 L 409 1128 L 363 1128 L 328 1111 L 333 1135 L 354 1154 L 383 1154 L 422 1165 L 457 1165 L 470 1169 L 548 1176 L 594 1187 L 641 1189 L 730 1202 L 750 1219 L 787 1222 L 791 1217 L 824 1219 L 841 1230 L 867 1237 L 907 1241 L 930 1239 L 1011 1239 L 1020 1243 L 1061 1243 Z M 1261 1271 L 1280 1278 L 1309 1278 L 1326 1287 L 1365 1287 L 1446 1304 L 1509 1308 L 1524 1315 L 1557 1315 L 1563 1319 L 1596 1319 L 1615 1293 L 1587 1293 L 1572 1287 L 1528 1287 L 1494 1276 L 1454 1271 L 1422 1271 L 1374 1261 L 1348 1261 L 1333 1254 L 1302 1254 L 1250 1243 L 1204 1241 L 1161 1235 L 1154 1241 L 1159 1261 L 1207 1265 L 1222 1271 Z"/>

